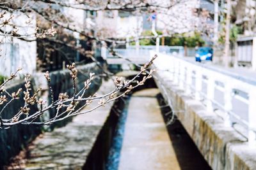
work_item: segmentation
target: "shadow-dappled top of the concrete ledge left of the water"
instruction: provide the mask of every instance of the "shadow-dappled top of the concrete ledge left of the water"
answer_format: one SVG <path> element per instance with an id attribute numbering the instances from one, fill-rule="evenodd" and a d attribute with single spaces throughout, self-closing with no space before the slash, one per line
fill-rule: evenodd
<path id="1" fill-rule="evenodd" d="M 97 94 L 106 94 L 113 88 L 112 81 L 104 82 Z M 108 103 L 105 107 L 78 115 L 65 127 L 46 132 L 43 138 L 36 139 L 25 169 L 82 169 L 112 105 Z M 82 111 L 95 106 L 97 101 Z"/>

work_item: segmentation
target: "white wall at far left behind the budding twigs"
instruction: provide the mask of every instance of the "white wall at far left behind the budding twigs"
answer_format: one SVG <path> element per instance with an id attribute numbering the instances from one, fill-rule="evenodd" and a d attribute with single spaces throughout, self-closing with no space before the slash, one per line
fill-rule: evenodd
<path id="1" fill-rule="evenodd" d="M 26 16 L 21 13 L 13 13 L 14 17 L 10 24 L 17 25 L 17 34 L 24 35 L 24 38 L 28 40 L 35 39 L 36 17 L 35 15 Z M 6 18 L 9 18 L 10 14 L 6 14 L 4 18 L 1 18 L 1 22 Z M 3 28 L 2 28 L 3 29 Z M 12 31 L 12 27 L 6 26 L 6 32 Z M 22 67 L 20 74 L 32 74 L 36 70 L 36 41 L 22 41 L 17 38 L 11 38 L 10 36 L 4 36 L 1 34 L 0 39 L 2 43 L 1 57 L 0 57 L 0 74 L 4 76 L 10 76 L 15 72 L 18 67 Z"/>

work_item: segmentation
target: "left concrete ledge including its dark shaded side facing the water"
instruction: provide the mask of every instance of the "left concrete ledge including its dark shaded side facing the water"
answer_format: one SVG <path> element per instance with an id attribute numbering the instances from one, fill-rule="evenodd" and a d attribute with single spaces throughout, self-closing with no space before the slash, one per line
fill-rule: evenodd
<path id="1" fill-rule="evenodd" d="M 97 94 L 101 96 L 113 88 L 113 81 L 103 82 Z M 77 115 L 65 127 L 36 138 L 24 169 L 104 169 L 118 118 L 111 113 L 113 104 Z M 95 106 L 97 101 L 81 111 Z"/>

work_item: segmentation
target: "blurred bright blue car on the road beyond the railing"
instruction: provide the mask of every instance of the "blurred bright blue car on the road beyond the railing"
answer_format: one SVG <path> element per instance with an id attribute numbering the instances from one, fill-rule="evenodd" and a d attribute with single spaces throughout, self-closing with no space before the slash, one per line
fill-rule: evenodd
<path id="1" fill-rule="evenodd" d="M 201 62 L 203 60 L 211 60 L 212 61 L 212 48 L 210 47 L 199 47 L 198 50 L 196 50 L 196 61 Z"/>

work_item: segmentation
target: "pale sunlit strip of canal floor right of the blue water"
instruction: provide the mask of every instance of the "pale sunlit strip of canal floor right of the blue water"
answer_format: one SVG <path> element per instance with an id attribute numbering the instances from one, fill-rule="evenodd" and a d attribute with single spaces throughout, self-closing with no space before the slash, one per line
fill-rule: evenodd
<path id="1" fill-rule="evenodd" d="M 151 89 L 144 92 L 134 93 L 129 103 L 119 169 L 179 167 L 154 97 L 159 91 Z"/>

